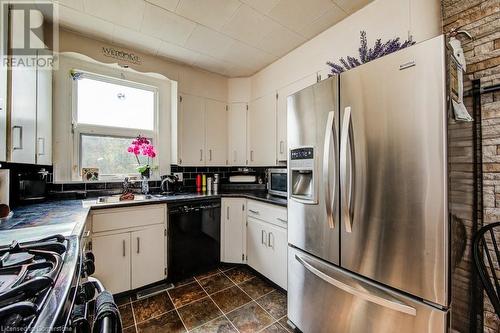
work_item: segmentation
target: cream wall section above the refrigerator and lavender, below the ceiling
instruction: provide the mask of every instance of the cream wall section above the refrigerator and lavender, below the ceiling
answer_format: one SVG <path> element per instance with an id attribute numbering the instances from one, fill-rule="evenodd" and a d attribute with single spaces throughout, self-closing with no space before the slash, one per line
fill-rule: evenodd
<path id="1" fill-rule="evenodd" d="M 416 42 L 427 40 L 441 34 L 440 1 L 376 0 L 370 3 L 253 75 L 250 98 L 269 94 L 313 73 L 320 72 L 325 78 L 329 71 L 327 61 L 357 56 L 361 30 L 367 32 L 369 46 L 377 38 L 405 40 L 409 34 Z"/>

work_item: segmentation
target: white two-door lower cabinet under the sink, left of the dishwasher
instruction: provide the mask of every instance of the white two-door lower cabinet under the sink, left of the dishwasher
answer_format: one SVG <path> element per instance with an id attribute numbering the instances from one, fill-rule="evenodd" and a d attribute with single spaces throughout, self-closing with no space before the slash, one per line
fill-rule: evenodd
<path id="1" fill-rule="evenodd" d="M 139 218 L 140 217 L 140 218 Z M 91 212 L 94 276 L 113 294 L 166 278 L 166 206 Z"/>

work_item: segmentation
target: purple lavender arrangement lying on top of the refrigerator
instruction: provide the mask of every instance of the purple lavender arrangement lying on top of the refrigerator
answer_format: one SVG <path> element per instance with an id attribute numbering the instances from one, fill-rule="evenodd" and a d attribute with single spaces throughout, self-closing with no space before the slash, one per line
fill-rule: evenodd
<path id="1" fill-rule="evenodd" d="M 331 67 L 331 74 L 329 76 L 340 74 L 346 70 L 357 67 L 361 64 L 375 60 L 387 54 L 402 50 L 408 46 L 415 44 L 411 39 L 401 43 L 400 38 L 389 39 L 387 42 L 382 43 L 378 38 L 373 47 L 368 48 L 368 40 L 366 38 L 366 31 L 361 31 L 360 47 L 358 49 L 359 59 L 351 56 L 342 57 L 339 59 L 340 63 L 328 61 L 326 64 Z"/>

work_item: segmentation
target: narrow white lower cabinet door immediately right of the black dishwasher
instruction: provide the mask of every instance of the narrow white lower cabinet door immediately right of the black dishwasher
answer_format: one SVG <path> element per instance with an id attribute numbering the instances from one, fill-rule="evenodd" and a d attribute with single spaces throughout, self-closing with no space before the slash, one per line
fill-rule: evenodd
<path id="1" fill-rule="evenodd" d="M 246 259 L 246 200 L 223 198 L 221 212 L 221 261 L 243 264 Z"/>

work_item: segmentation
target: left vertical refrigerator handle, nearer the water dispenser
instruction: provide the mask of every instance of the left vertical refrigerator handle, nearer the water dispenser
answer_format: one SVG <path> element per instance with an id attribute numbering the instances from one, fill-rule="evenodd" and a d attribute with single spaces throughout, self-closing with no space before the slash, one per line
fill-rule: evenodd
<path id="1" fill-rule="evenodd" d="M 330 111 L 328 113 L 328 119 L 326 121 L 326 129 L 325 129 L 325 144 L 324 144 L 324 150 L 323 150 L 323 179 L 326 179 L 326 184 L 325 184 L 325 206 L 326 206 L 326 215 L 328 218 L 328 224 L 330 226 L 330 229 L 335 228 L 335 221 L 333 219 L 333 207 L 335 207 L 337 196 L 335 193 L 337 192 L 337 181 L 335 180 L 333 183 L 333 195 L 334 198 L 333 200 L 331 199 L 331 184 L 330 184 L 330 149 L 331 149 L 331 144 L 333 143 L 333 149 L 334 149 L 334 156 L 336 156 L 336 140 L 335 140 L 335 127 L 333 126 L 334 122 L 334 117 L 335 117 L 335 112 Z M 337 173 L 336 170 L 336 165 L 334 163 L 334 173 Z M 336 178 L 334 178 L 336 179 Z"/>

